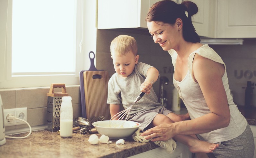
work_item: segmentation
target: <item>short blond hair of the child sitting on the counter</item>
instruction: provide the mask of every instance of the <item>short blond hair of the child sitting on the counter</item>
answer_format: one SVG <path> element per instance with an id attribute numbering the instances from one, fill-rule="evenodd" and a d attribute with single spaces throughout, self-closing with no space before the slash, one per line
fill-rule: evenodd
<path id="1" fill-rule="evenodd" d="M 137 42 L 131 36 L 119 35 L 112 40 L 110 44 L 110 52 L 111 56 L 113 56 L 114 54 L 122 56 L 128 52 L 132 52 L 135 56 L 137 56 Z"/>

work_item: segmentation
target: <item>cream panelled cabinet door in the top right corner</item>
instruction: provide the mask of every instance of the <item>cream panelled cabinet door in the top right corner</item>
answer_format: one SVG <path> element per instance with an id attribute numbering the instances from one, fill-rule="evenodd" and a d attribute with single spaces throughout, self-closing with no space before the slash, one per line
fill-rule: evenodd
<path id="1" fill-rule="evenodd" d="M 218 0 L 217 38 L 255 38 L 255 6 L 255 0 Z"/>

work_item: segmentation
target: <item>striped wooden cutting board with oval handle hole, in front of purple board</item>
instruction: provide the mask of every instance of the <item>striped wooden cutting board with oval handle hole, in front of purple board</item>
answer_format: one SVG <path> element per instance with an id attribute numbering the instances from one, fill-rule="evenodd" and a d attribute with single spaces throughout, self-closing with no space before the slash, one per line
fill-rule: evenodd
<path id="1" fill-rule="evenodd" d="M 107 71 L 84 71 L 84 96 L 86 117 L 104 116 L 110 120 L 108 97 L 109 75 Z"/>

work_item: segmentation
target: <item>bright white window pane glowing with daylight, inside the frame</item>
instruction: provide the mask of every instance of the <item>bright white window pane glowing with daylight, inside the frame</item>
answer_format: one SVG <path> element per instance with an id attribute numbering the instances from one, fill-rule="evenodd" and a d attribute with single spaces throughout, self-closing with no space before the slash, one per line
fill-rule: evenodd
<path id="1" fill-rule="evenodd" d="M 12 75 L 75 74 L 76 1 L 13 0 Z"/>

